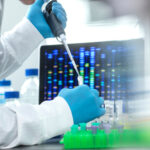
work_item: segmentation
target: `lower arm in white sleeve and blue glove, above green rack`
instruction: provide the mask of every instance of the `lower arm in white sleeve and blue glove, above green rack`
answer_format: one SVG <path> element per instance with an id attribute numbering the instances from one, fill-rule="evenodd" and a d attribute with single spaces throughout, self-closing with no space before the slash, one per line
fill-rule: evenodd
<path id="1" fill-rule="evenodd" d="M 103 115 L 104 101 L 98 95 L 98 91 L 83 85 L 63 89 L 53 101 L 41 105 L 0 108 L 0 149 L 40 144 L 63 134 L 73 123 L 88 122 Z"/>

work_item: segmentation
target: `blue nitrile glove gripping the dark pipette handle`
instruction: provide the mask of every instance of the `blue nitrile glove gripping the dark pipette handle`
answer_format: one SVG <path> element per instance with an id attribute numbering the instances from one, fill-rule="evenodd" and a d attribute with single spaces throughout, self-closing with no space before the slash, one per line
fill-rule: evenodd
<path id="1" fill-rule="evenodd" d="M 43 3 L 44 3 L 43 0 L 36 0 L 36 2 L 30 6 L 29 11 L 27 13 L 27 18 L 42 34 L 44 38 L 54 37 L 41 10 Z M 55 14 L 57 19 L 62 23 L 63 28 L 65 28 L 67 17 L 66 12 L 64 8 L 61 6 L 61 4 L 58 2 L 53 2 L 52 12 Z"/>

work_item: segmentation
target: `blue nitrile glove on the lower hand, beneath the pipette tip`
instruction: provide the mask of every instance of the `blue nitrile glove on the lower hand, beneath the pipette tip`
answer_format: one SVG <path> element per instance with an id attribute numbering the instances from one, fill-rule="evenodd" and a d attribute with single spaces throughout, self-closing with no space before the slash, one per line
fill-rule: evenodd
<path id="1" fill-rule="evenodd" d="M 101 107 L 104 100 L 99 97 L 97 90 L 90 89 L 87 85 L 74 89 L 64 88 L 58 96 L 63 97 L 68 103 L 74 124 L 89 122 L 105 114 L 105 109 Z"/>

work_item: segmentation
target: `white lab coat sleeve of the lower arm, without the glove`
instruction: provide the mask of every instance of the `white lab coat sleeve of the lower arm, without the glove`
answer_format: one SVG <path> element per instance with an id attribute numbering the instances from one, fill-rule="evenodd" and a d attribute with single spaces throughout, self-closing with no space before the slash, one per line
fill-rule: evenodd
<path id="1" fill-rule="evenodd" d="M 12 103 L 0 108 L 0 149 L 40 144 L 72 125 L 71 110 L 62 97 L 41 105 Z"/>

